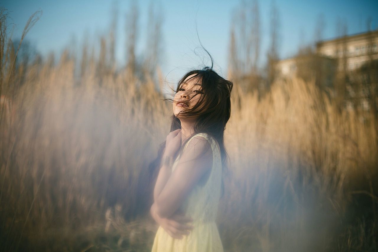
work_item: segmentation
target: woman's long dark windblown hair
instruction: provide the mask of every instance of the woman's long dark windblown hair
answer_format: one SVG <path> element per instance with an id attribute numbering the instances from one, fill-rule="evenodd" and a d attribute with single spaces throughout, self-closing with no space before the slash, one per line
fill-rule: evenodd
<path id="1" fill-rule="evenodd" d="M 226 123 L 231 115 L 231 90 L 233 84 L 231 81 L 218 75 L 212 69 L 212 66 L 204 67 L 201 70 L 191 70 L 187 72 L 178 82 L 175 90 L 176 93 L 183 85 L 183 82 L 191 75 L 194 76 L 190 79 L 195 79 L 197 83 L 201 84 L 200 92 L 198 93 L 203 92 L 203 95 L 201 95 L 198 103 L 189 109 L 181 110 L 180 114 L 185 117 L 197 118 L 194 124 L 194 134 L 207 133 L 217 140 L 222 157 L 222 171 L 223 174 L 228 173 L 228 155 L 224 143 L 224 131 L 226 129 Z M 198 95 L 198 93 L 196 95 Z M 166 100 L 177 102 L 173 99 Z M 170 131 L 176 129 L 181 129 L 181 121 L 175 115 L 172 115 Z M 190 137 L 181 145 L 180 151 L 182 151 L 183 146 L 185 146 L 189 139 Z M 165 144 L 166 142 L 160 145 L 158 156 L 150 164 L 150 170 L 157 170 L 156 168 L 160 165 Z M 222 180 L 222 196 L 224 192 L 223 188 L 224 185 Z"/>

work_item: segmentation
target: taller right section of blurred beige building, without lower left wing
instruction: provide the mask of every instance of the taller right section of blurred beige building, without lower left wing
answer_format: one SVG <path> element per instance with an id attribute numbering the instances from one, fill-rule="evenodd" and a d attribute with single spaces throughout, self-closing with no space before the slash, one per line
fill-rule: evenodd
<path id="1" fill-rule="evenodd" d="M 337 75 L 345 87 L 344 106 L 377 112 L 378 31 L 369 31 L 316 43 L 320 55 L 337 60 Z M 366 76 L 369 75 L 369 78 Z M 371 78 L 373 76 L 373 78 Z"/>

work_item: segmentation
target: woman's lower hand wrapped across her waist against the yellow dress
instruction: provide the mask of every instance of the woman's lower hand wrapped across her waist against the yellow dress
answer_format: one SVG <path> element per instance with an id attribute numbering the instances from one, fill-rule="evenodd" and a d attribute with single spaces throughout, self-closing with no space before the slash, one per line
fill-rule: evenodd
<path id="1" fill-rule="evenodd" d="M 184 216 L 181 212 L 176 212 L 169 218 L 161 218 L 155 212 L 155 203 L 151 206 L 152 218 L 161 226 L 163 229 L 175 239 L 182 239 L 184 235 L 189 235 L 190 230 L 193 226 L 189 224 L 192 218 Z"/>

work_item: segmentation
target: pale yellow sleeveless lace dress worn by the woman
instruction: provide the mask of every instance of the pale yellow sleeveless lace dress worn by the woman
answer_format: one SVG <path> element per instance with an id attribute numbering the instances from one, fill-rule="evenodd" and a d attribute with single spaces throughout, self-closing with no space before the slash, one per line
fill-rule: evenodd
<path id="1" fill-rule="evenodd" d="M 180 209 L 185 216 L 193 219 L 194 228 L 182 239 L 172 238 L 162 227 L 158 228 L 153 241 L 152 252 L 223 252 L 222 241 L 218 233 L 215 218 L 222 182 L 222 161 L 219 146 L 214 138 L 206 133 L 192 136 L 184 146 L 195 137 L 208 140 L 212 149 L 212 168 L 204 185 L 195 185 Z M 180 156 L 175 160 L 172 171 L 175 170 Z"/>

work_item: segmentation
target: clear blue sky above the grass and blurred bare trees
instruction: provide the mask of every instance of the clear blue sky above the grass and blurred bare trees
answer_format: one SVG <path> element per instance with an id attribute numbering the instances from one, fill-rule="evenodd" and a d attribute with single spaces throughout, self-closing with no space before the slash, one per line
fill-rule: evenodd
<path id="1" fill-rule="evenodd" d="M 204 47 L 215 60 L 214 68 L 226 75 L 229 34 L 232 11 L 240 5 L 239 0 L 193 0 L 169 1 L 160 0 L 163 9 L 163 45 L 164 58 L 161 62 L 163 73 L 168 78 L 176 79 L 186 70 L 203 65 L 203 57 L 195 55 L 195 48 L 200 46 L 198 34 Z M 145 50 L 147 14 L 150 0 L 138 1 L 139 36 L 137 53 Z M 260 19 L 262 22 L 262 50 L 260 58 L 266 54 L 269 44 L 269 14 L 271 1 L 259 1 Z M 348 34 L 367 30 L 367 19 L 372 18 L 371 27 L 378 28 L 377 0 L 276 0 L 280 13 L 280 58 L 293 55 L 300 43 L 300 34 L 304 34 L 305 42 L 313 39 L 316 20 L 324 14 L 324 39 L 336 36 L 336 22 L 345 20 Z M 37 10 L 43 15 L 29 31 L 27 39 L 36 46 L 43 55 L 54 51 L 60 53 L 64 47 L 76 42 L 80 45 L 84 34 L 90 41 L 96 41 L 99 35 L 106 34 L 111 21 L 112 1 L 51 1 L 51 0 L 12 0 L 0 3 L 8 11 L 15 24 L 13 38 L 22 33 L 23 26 L 29 16 Z M 120 62 L 124 60 L 124 22 L 125 12 L 130 0 L 118 0 L 118 40 L 116 54 Z M 303 36 L 302 36 L 303 37 Z M 196 50 L 197 51 L 197 50 Z M 263 61 L 260 62 L 263 65 Z"/>

